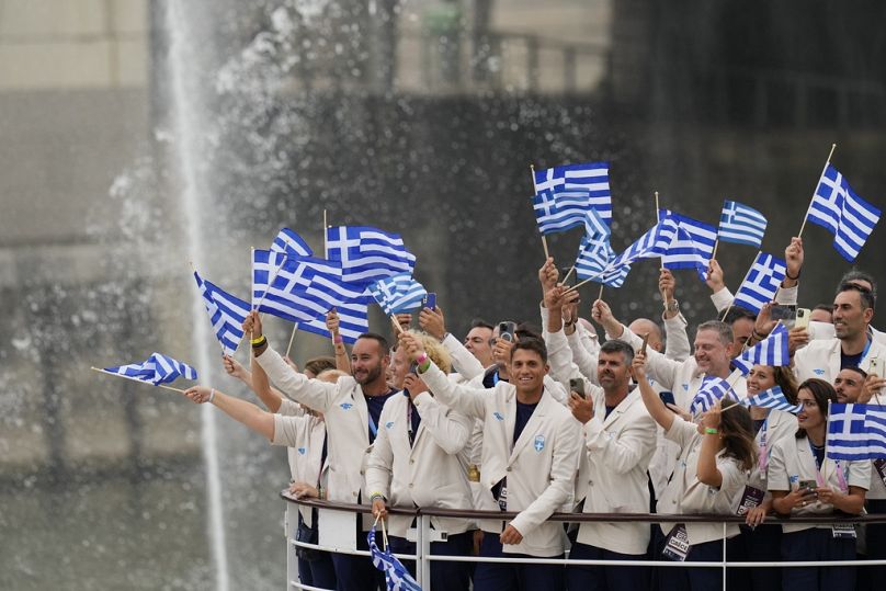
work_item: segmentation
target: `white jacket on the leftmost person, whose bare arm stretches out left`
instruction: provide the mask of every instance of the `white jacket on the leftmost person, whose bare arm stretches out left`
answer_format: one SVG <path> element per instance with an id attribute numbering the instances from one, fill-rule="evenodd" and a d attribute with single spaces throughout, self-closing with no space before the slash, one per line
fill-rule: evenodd
<path id="1" fill-rule="evenodd" d="M 273 445 L 286 445 L 289 455 L 289 471 L 293 481 L 320 487 L 325 481 L 327 464 L 320 466 L 326 439 L 326 424 L 319 417 L 309 414 L 274 414 Z M 327 451 L 328 451 L 327 444 Z M 309 507 L 298 507 L 303 521 L 311 526 Z"/>

